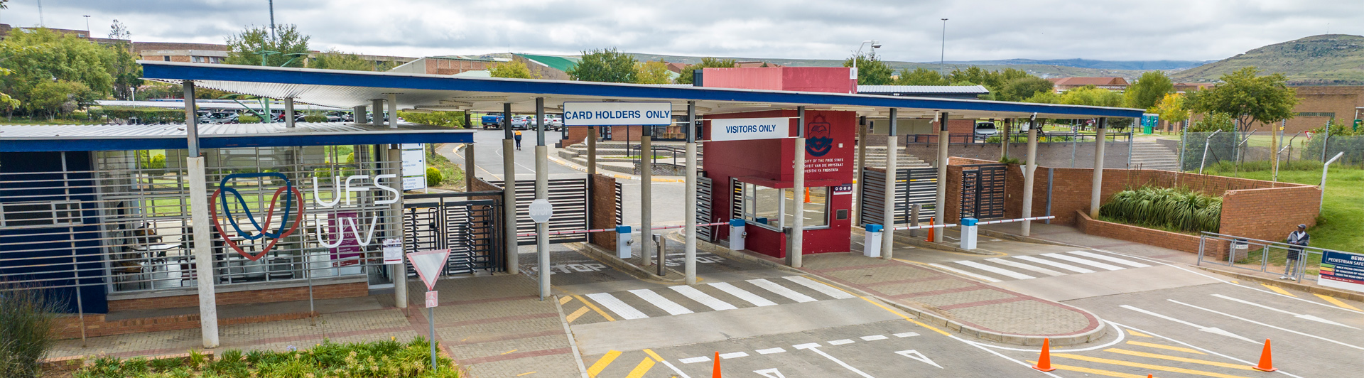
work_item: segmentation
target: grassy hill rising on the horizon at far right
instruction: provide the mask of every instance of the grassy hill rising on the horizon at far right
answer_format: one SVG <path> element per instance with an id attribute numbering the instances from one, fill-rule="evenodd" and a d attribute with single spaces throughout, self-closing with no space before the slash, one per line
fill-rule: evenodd
<path id="1" fill-rule="evenodd" d="M 1213 82 L 1248 66 L 1264 74 L 1281 72 L 1296 85 L 1364 85 L 1364 37 L 1312 35 L 1248 50 L 1172 76 L 1178 82 Z"/>

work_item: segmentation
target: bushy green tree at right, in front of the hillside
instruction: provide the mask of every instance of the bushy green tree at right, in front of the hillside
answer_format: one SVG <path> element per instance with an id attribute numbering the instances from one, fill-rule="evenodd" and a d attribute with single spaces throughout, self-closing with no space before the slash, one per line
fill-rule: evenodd
<path id="1" fill-rule="evenodd" d="M 1222 83 L 1189 96 L 1189 109 L 1230 115 L 1241 132 L 1249 131 L 1255 123 L 1292 119 L 1299 100 L 1297 91 L 1288 86 L 1288 76 L 1256 74 L 1259 70 L 1255 67 L 1245 67 L 1222 75 Z"/>

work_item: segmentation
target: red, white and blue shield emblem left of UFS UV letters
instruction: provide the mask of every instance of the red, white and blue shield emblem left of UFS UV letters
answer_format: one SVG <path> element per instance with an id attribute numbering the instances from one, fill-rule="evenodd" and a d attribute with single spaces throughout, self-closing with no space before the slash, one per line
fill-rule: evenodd
<path id="1" fill-rule="evenodd" d="M 265 183 L 265 179 L 270 179 L 270 181 L 276 180 L 282 181 L 284 187 L 276 190 L 274 197 L 271 197 L 270 202 L 267 202 L 270 203 L 270 207 L 266 210 L 265 218 L 256 220 L 255 214 L 251 212 L 251 207 L 247 205 L 247 201 L 241 198 L 241 192 L 228 186 L 228 181 L 232 181 L 235 179 L 259 179 L 261 183 Z M 237 216 L 233 214 L 232 207 L 228 206 L 228 194 L 232 194 L 232 197 L 236 199 L 237 209 L 246 213 L 244 216 L 247 217 L 247 221 L 250 221 L 251 227 L 255 228 L 254 232 L 246 232 L 241 229 L 241 224 L 239 224 Z M 280 198 L 281 194 L 284 194 L 282 201 Z M 232 225 L 232 229 L 237 232 L 236 236 L 229 236 L 228 232 L 222 228 L 222 222 L 218 221 L 220 205 L 222 206 L 222 214 L 228 218 L 228 222 Z M 274 212 L 277 209 L 276 206 L 278 206 L 281 210 L 280 227 L 274 232 L 271 232 L 269 227 L 274 221 Z M 278 243 L 280 239 L 288 237 L 289 235 L 293 233 L 293 231 L 299 229 L 299 222 L 303 221 L 303 192 L 300 192 L 299 188 L 295 188 L 293 183 L 289 181 L 289 177 L 285 177 L 282 173 L 276 173 L 276 172 L 232 173 L 228 175 L 226 177 L 222 177 L 222 181 L 218 183 L 218 190 L 213 192 L 213 197 L 209 197 L 209 214 L 213 220 L 213 227 L 218 229 L 218 235 L 221 235 L 222 242 L 228 247 L 232 247 L 232 250 L 237 251 L 237 254 L 240 254 L 241 257 L 246 257 L 251 261 L 258 261 L 261 259 L 261 257 L 265 257 L 265 254 L 270 252 L 270 250 L 274 248 L 274 244 Z M 285 229 L 285 227 L 288 227 L 288 229 Z M 259 240 L 262 237 L 270 237 L 270 244 L 266 244 L 266 247 L 261 248 L 261 251 L 256 254 L 250 254 L 247 251 L 243 251 L 241 247 L 232 240 L 233 237 L 237 236 L 243 237 L 244 240 Z"/>

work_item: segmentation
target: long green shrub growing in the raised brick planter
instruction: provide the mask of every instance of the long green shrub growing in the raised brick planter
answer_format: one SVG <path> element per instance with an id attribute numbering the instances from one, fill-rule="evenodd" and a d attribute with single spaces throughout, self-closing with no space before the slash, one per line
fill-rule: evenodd
<path id="1" fill-rule="evenodd" d="M 1099 216 L 1139 227 L 1218 232 L 1222 198 L 1188 188 L 1140 187 L 1113 194 Z"/>

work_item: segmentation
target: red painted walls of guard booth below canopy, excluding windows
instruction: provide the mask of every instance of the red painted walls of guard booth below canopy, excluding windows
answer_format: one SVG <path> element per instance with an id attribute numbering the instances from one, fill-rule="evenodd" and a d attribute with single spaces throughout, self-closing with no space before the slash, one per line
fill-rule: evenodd
<path id="1" fill-rule="evenodd" d="M 762 68 L 767 70 L 767 68 Z M 791 135 L 797 130 L 795 111 L 768 111 L 749 113 L 708 115 L 713 119 L 749 119 L 749 117 L 790 117 Z M 857 134 L 857 113 L 833 111 L 806 111 L 806 181 L 833 180 L 839 184 L 853 183 L 853 154 L 854 136 Z M 709 139 L 709 123 L 707 123 L 705 139 Z M 705 142 L 705 175 L 711 177 L 713 198 L 711 214 L 713 221 L 730 218 L 732 205 L 731 177 L 756 176 L 769 180 L 790 181 L 795 176 L 794 139 L 760 139 L 760 141 L 724 141 Z M 812 153 L 813 151 L 813 153 Z M 822 153 L 821 156 L 816 156 Z M 829 194 L 829 227 L 805 231 L 805 254 L 818 252 L 846 252 L 850 250 L 853 222 L 850 218 L 837 220 L 837 210 L 851 213 L 851 194 Z M 728 237 L 728 227 L 717 229 L 717 237 Z M 745 242 L 752 251 L 786 257 L 786 236 L 780 232 L 758 227 L 747 228 L 749 236 Z"/>

